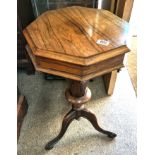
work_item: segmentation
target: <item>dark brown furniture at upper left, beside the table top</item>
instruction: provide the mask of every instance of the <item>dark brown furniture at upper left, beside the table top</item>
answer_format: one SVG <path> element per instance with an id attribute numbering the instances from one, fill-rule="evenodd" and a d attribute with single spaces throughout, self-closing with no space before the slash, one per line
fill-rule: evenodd
<path id="1" fill-rule="evenodd" d="M 17 1 L 17 68 L 24 69 L 28 74 L 35 72 L 33 64 L 27 55 L 23 29 L 34 20 L 31 0 Z"/>

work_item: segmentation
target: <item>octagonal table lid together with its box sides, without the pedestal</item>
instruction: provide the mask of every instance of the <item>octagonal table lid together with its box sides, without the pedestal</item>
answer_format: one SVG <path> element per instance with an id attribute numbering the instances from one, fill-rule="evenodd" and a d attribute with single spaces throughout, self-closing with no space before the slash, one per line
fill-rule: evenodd
<path id="1" fill-rule="evenodd" d="M 123 66 L 127 32 L 127 22 L 109 11 L 85 7 L 47 11 L 23 31 L 38 70 L 79 81 Z"/>

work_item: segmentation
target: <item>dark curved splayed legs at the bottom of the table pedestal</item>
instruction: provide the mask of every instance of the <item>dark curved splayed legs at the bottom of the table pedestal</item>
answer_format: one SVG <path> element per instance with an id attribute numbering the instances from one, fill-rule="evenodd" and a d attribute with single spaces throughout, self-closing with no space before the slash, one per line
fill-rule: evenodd
<path id="1" fill-rule="evenodd" d="M 98 123 L 97 123 L 97 119 L 96 116 L 88 111 L 87 109 L 82 109 L 82 110 L 75 110 L 75 109 L 71 109 L 66 116 L 63 119 L 62 122 L 62 127 L 60 130 L 60 133 L 58 134 L 57 137 L 55 137 L 53 140 L 51 140 L 50 142 L 48 142 L 48 144 L 45 146 L 46 150 L 50 150 L 54 147 L 54 145 L 63 137 L 63 135 L 65 134 L 69 124 L 74 120 L 74 119 L 79 119 L 80 117 L 84 117 L 86 118 L 88 121 L 91 122 L 91 124 L 93 125 L 93 127 L 99 131 L 102 134 L 107 135 L 109 138 L 115 138 L 117 135 L 113 132 L 107 131 L 102 129 Z"/>

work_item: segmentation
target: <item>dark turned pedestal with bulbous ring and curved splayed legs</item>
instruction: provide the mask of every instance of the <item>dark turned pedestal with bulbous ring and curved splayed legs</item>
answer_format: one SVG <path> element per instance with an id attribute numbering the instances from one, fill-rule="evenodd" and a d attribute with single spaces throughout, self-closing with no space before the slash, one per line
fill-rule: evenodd
<path id="1" fill-rule="evenodd" d="M 88 102 L 91 98 L 91 91 L 87 87 L 87 81 L 71 81 L 70 87 L 66 90 L 66 98 L 69 101 L 69 103 L 72 105 L 72 109 L 65 115 L 62 127 L 60 130 L 60 133 L 56 138 L 51 140 L 47 143 L 45 146 L 46 150 L 50 150 L 53 148 L 53 146 L 62 138 L 62 136 L 65 134 L 69 124 L 74 119 L 79 119 L 80 117 L 86 118 L 88 121 L 91 122 L 93 127 L 103 133 L 106 134 L 110 138 L 116 137 L 115 133 L 112 133 L 110 131 L 103 130 L 97 123 L 96 116 L 84 108 L 84 103 Z"/>

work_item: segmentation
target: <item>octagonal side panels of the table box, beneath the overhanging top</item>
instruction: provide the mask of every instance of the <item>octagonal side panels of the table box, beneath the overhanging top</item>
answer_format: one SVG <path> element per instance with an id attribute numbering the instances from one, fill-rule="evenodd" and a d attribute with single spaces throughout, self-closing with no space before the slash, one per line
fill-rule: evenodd
<path id="1" fill-rule="evenodd" d="M 81 66 L 65 63 L 63 61 L 56 61 L 53 59 L 42 59 L 40 57 L 37 59 L 40 61 L 37 61 L 36 56 L 32 53 L 30 47 L 26 46 L 26 49 L 37 71 L 63 76 L 73 80 L 89 80 L 124 66 L 124 54 L 107 59 L 94 65 Z"/>

